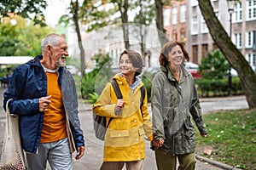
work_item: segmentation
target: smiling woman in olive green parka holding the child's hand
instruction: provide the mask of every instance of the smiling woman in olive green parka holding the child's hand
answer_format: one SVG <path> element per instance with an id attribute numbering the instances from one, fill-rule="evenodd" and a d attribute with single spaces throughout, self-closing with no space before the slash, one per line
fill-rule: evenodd
<path id="1" fill-rule="evenodd" d="M 159 170 L 195 169 L 195 125 L 207 129 L 191 74 L 183 66 L 189 54 L 183 42 L 167 42 L 160 52 L 160 71 L 152 82 L 155 158 Z"/>

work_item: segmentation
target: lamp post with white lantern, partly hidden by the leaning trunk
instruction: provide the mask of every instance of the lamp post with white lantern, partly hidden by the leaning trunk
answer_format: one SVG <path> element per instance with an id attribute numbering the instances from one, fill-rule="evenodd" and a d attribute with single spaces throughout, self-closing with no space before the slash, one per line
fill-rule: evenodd
<path id="1" fill-rule="evenodd" d="M 228 0 L 228 8 L 229 8 L 229 14 L 230 14 L 230 40 L 232 41 L 232 14 L 234 13 L 234 8 L 236 1 Z M 230 64 L 229 64 L 230 65 Z M 231 65 L 229 68 L 229 73 L 228 73 L 228 95 L 231 95 L 231 89 L 232 89 L 232 76 L 231 76 Z"/>

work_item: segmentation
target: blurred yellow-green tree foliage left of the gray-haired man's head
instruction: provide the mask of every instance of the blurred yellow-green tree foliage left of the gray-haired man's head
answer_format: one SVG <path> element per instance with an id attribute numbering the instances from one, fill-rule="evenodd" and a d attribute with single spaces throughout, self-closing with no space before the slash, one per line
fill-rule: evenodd
<path id="1" fill-rule="evenodd" d="M 15 19 L 15 26 L 10 20 Z M 6 18 L 0 23 L 0 55 L 2 56 L 36 56 L 41 54 L 41 40 L 51 30 L 48 27 L 27 25 L 19 16 Z"/>

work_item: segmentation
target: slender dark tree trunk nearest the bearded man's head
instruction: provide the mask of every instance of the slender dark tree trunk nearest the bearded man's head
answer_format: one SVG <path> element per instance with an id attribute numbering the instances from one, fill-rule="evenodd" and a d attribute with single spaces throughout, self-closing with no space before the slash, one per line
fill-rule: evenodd
<path id="1" fill-rule="evenodd" d="M 85 69 L 85 54 L 84 54 L 84 47 L 82 43 L 80 28 L 79 28 L 79 0 L 76 0 L 76 3 L 73 3 L 74 10 L 73 10 L 73 22 L 75 25 L 75 29 L 77 32 L 78 42 L 79 42 L 79 49 L 80 49 L 80 71 L 82 76 L 84 76 L 84 69 Z"/>

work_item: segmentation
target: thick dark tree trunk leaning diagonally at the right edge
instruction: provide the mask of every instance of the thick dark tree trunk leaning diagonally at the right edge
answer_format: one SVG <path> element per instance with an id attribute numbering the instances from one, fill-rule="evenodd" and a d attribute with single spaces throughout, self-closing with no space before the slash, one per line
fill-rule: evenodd
<path id="1" fill-rule="evenodd" d="M 210 0 L 198 0 L 201 14 L 206 20 L 213 41 L 224 54 L 230 65 L 235 68 L 240 77 L 241 88 L 247 98 L 249 108 L 256 108 L 256 74 L 247 60 L 230 40 L 224 27 L 213 12 Z"/>

